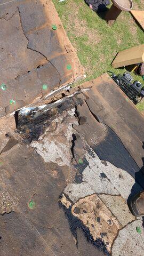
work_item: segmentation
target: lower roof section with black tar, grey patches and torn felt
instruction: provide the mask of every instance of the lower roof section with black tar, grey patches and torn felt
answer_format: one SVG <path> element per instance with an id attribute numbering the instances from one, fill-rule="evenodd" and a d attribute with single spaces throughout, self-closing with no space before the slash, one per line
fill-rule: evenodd
<path id="1" fill-rule="evenodd" d="M 3 125 L 1 253 L 142 256 L 143 117 L 107 74 L 62 93 Z"/>

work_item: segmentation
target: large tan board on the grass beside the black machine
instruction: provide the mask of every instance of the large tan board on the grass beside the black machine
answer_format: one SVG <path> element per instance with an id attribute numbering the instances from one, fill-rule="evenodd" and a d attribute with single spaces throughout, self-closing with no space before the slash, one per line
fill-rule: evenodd
<path id="1" fill-rule="evenodd" d="M 113 68 L 120 68 L 135 63 L 140 63 L 143 61 L 144 44 L 141 44 L 139 46 L 135 46 L 130 49 L 119 52 L 111 65 L 113 66 Z"/>

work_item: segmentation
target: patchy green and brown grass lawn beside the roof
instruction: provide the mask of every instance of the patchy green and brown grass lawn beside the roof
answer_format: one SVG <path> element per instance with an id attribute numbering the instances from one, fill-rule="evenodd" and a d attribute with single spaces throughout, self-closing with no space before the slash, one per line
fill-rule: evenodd
<path id="1" fill-rule="evenodd" d="M 143 0 L 133 2 L 133 9 L 141 10 Z M 84 0 L 53 0 L 53 3 L 85 69 L 85 81 L 98 77 L 107 70 L 123 74 L 125 69 L 111 67 L 117 52 L 144 43 L 144 33 L 131 14 L 122 12 L 114 25 L 109 27 Z M 134 74 L 132 76 L 144 85 L 141 77 Z M 139 103 L 137 107 L 143 111 L 144 103 Z"/>

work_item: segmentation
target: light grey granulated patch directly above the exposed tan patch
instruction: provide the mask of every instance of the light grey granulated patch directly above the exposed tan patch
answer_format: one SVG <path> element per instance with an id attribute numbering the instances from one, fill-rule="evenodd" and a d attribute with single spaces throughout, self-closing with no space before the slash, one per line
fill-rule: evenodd
<path id="1" fill-rule="evenodd" d="M 86 160 L 89 162 L 89 166 L 83 171 L 82 183 L 68 184 L 64 193 L 68 195 L 74 203 L 79 199 L 81 193 L 82 197 L 87 196 L 87 193 L 90 195 L 89 190 L 87 191 L 88 188 L 92 189 L 92 191 L 97 194 L 122 195 L 124 199 L 127 199 L 135 180 L 126 171 L 118 169 L 108 162 L 106 162 L 107 165 L 103 164 L 94 151 L 92 153 L 94 155 L 93 158 L 91 154 L 85 156 Z M 137 185 L 137 189 L 137 191 L 140 191 L 142 188 Z M 71 192 L 69 193 L 69 191 Z M 137 193 L 137 191 L 135 192 Z"/>

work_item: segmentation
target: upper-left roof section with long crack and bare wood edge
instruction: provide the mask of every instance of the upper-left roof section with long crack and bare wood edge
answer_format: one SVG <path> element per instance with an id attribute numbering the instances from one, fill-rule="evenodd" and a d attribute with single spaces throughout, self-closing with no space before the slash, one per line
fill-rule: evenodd
<path id="1" fill-rule="evenodd" d="M 0 24 L 0 117 L 83 77 L 52 1 L 1 1 Z"/>

